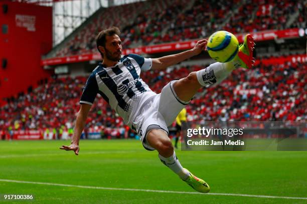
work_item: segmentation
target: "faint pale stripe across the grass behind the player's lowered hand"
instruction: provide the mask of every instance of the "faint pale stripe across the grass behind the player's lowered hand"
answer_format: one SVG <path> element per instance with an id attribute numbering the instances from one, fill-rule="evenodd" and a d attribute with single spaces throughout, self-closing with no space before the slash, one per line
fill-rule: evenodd
<path id="1" fill-rule="evenodd" d="M 64 150 L 60 150 L 59 152 Z M 106 151 L 85 151 L 80 152 L 80 155 L 82 154 L 103 154 L 103 153 L 134 153 L 139 152 L 135 150 L 122 150 L 122 151 L 112 151 L 112 150 L 106 150 Z M 71 152 L 73 153 L 73 151 Z M 0 155 L 0 158 L 15 158 L 15 157 L 36 157 L 36 156 L 58 156 L 58 155 L 65 155 L 65 153 L 33 153 L 33 154 L 10 154 L 10 155 Z M 69 155 L 69 154 L 67 154 Z"/>

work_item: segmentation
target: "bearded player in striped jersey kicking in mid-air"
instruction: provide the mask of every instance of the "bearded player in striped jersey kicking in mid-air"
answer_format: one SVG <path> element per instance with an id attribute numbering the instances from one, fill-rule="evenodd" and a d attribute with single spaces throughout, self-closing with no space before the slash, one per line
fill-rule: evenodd
<path id="1" fill-rule="evenodd" d="M 157 150 L 161 161 L 179 177 L 199 192 L 209 192 L 209 185 L 194 176 L 180 164 L 168 136 L 168 126 L 178 113 L 190 102 L 197 90 L 203 86 L 217 84 L 237 67 L 251 68 L 253 64 L 254 40 L 245 36 L 238 54 L 231 62 L 216 62 L 208 67 L 191 72 L 188 76 L 170 81 L 161 93 L 153 92 L 139 77 L 140 71 L 165 69 L 177 64 L 202 50 L 207 40 L 197 41 L 194 48 L 160 58 L 144 58 L 137 54 L 121 55 L 122 45 L 119 29 L 104 29 L 96 36 L 96 43 L 103 60 L 93 70 L 85 84 L 77 113 L 72 141 L 60 148 L 79 153 L 79 140 L 87 114 L 99 93 L 124 122 L 138 132 L 145 149 Z"/>

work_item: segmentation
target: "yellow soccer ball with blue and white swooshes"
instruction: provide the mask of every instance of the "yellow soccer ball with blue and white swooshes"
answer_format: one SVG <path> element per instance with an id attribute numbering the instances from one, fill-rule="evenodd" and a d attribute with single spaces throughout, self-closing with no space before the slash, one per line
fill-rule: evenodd
<path id="1" fill-rule="evenodd" d="M 207 50 L 213 59 L 228 62 L 238 53 L 239 41 L 231 32 L 220 30 L 209 37 Z"/>

